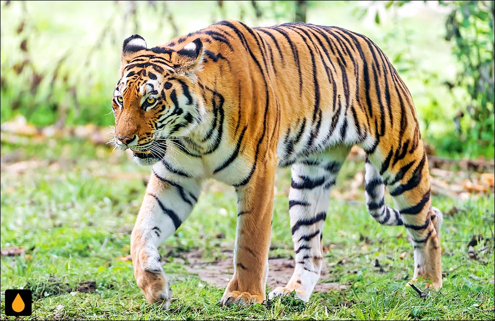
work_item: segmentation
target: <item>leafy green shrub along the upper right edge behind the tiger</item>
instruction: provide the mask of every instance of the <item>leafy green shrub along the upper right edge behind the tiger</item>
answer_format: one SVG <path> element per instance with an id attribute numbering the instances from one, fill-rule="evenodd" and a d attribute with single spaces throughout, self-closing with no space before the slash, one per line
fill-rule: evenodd
<path id="1" fill-rule="evenodd" d="M 451 7 L 446 19 L 446 39 L 454 41 L 454 54 L 461 63 L 452 87 L 467 91 L 465 100 L 459 101 L 466 116 L 457 130 L 465 134 L 468 144 L 495 144 L 495 1 L 442 2 Z M 457 120 L 459 123 L 459 121 Z"/>

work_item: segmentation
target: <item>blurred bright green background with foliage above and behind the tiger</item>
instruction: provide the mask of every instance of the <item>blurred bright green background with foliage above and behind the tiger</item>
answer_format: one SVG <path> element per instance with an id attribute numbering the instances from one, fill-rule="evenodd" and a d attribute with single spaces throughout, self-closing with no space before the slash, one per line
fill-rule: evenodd
<path id="1" fill-rule="evenodd" d="M 158 46 L 222 19 L 367 35 L 409 87 L 435 153 L 493 158 L 494 1 L 1 1 L 1 123 L 111 125 L 126 37 Z"/>

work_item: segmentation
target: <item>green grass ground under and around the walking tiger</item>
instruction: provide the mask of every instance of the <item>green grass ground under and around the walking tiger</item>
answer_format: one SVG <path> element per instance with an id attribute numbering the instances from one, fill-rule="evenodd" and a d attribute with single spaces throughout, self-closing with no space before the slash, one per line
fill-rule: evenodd
<path id="1" fill-rule="evenodd" d="M 129 254 L 148 169 L 133 165 L 125 153 L 76 138 L 2 140 L 1 164 L 1 248 L 26 249 L 21 256 L 1 257 L 2 320 L 494 319 L 493 193 L 467 201 L 434 198 L 445 213 L 444 287 L 421 298 L 406 286 L 413 258 L 405 230 L 380 226 L 366 213 L 362 186 L 349 193 L 363 163 L 347 162 L 332 192 L 323 238 L 330 248 L 324 255 L 327 274 L 320 280 L 347 288 L 316 293 L 307 304 L 283 298 L 221 308 L 215 303 L 224 289 L 188 273 L 181 259 L 198 251 L 213 261 L 233 247 L 235 192 L 208 181 L 189 220 L 160 247 L 178 298 L 162 311 L 145 301 L 132 263 L 119 260 Z M 293 255 L 289 179 L 288 170 L 278 172 L 270 252 L 287 258 Z M 458 211 L 448 214 L 454 206 Z M 468 256 L 473 235 L 485 237 L 474 247 L 476 260 Z M 87 281 L 96 290 L 77 291 Z M 21 287 L 33 290 L 33 315 L 6 317 L 4 291 Z"/>

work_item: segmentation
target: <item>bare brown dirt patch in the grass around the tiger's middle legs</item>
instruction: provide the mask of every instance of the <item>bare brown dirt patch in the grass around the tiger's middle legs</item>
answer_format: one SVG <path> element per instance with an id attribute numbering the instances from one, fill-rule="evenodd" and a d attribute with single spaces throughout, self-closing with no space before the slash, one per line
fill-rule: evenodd
<path id="1" fill-rule="evenodd" d="M 222 259 L 204 260 L 199 251 L 184 253 L 186 270 L 198 274 L 199 278 L 207 283 L 226 287 L 234 274 L 233 253 L 231 250 L 222 251 Z M 269 258 L 268 259 L 267 285 L 272 289 L 277 286 L 285 286 L 294 272 L 294 259 L 292 258 Z M 329 290 L 347 289 L 348 285 L 337 282 L 323 283 L 327 276 L 327 269 L 323 267 L 320 281 L 314 288 L 315 292 L 327 292 Z"/>

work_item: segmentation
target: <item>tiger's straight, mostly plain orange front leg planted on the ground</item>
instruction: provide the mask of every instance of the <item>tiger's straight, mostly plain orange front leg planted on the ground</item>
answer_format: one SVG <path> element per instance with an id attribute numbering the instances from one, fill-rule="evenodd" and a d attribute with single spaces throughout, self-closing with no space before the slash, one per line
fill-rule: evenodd
<path id="1" fill-rule="evenodd" d="M 266 298 L 276 168 L 276 160 L 258 160 L 248 183 L 237 187 L 234 276 L 220 299 L 223 306 L 261 303 Z"/>

